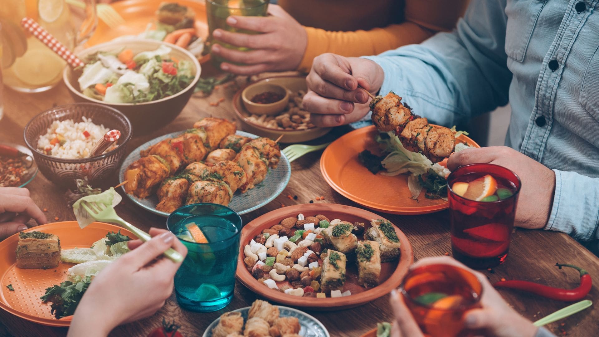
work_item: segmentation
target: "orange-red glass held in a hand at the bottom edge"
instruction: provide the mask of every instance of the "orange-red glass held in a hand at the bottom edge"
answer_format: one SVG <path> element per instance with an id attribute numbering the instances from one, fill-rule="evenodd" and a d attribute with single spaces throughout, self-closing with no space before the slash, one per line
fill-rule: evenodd
<path id="1" fill-rule="evenodd" d="M 473 273 L 451 264 L 429 264 L 410 271 L 401 284 L 404 302 L 425 336 L 481 335 L 464 329 L 464 314 L 480 308 L 482 285 Z"/>

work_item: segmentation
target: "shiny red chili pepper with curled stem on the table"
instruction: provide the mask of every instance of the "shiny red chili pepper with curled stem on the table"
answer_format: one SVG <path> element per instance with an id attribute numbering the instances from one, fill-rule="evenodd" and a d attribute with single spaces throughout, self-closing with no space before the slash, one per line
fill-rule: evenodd
<path id="1" fill-rule="evenodd" d="M 529 293 L 547 297 L 548 299 L 561 300 L 564 302 L 582 300 L 586 294 L 591 291 L 591 275 L 589 275 L 586 270 L 572 264 L 556 263 L 555 265 L 558 266 L 559 269 L 561 269 L 561 267 L 570 267 L 578 270 L 580 272 L 580 285 L 574 289 L 561 289 L 548 287 L 547 285 L 529 281 L 500 281 L 495 283 L 493 286 L 496 288 L 510 288 L 528 291 Z"/>

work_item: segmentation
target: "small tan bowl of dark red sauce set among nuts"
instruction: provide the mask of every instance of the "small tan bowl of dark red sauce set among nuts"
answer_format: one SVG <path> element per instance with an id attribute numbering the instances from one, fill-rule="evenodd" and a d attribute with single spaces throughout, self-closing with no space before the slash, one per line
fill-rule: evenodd
<path id="1" fill-rule="evenodd" d="M 250 113 L 276 115 L 287 107 L 289 92 L 274 83 L 257 82 L 243 89 L 241 100 Z"/>

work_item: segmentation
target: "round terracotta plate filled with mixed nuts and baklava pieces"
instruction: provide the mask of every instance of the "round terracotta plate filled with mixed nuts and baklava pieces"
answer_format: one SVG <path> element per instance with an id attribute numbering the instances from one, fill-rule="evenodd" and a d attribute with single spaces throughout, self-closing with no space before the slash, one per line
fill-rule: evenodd
<path id="1" fill-rule="evenodd" d="M 406 235 L 375 213 L 298 204 L 243 228 L 237 279 L 273 302 L 327 311 L 384 296 L 413 260 Z"/>

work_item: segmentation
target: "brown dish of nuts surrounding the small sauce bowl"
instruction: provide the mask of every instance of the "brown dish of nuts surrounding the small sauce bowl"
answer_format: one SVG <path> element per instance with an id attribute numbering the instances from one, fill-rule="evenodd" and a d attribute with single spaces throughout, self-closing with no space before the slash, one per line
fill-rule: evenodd
<path id="1" fill-rule="evenodd" d="M 285 109 L 274 115 L 250 112 L 244 104 L 242 92 L 250 86 L 277 85 L 287 90 L 289 101 Z M 305 77 L 269 77 L 250 83 L 233 97 L 233 108 L 241 121 L 244 131 L 262 137 L 277 139 L 282 143 L 299 143 L 316 139 L 328 133 L 331 128 L 319 128 L 310 122 L 310 113 L 303 109 L 302 100 L 307 92 Z"/>

